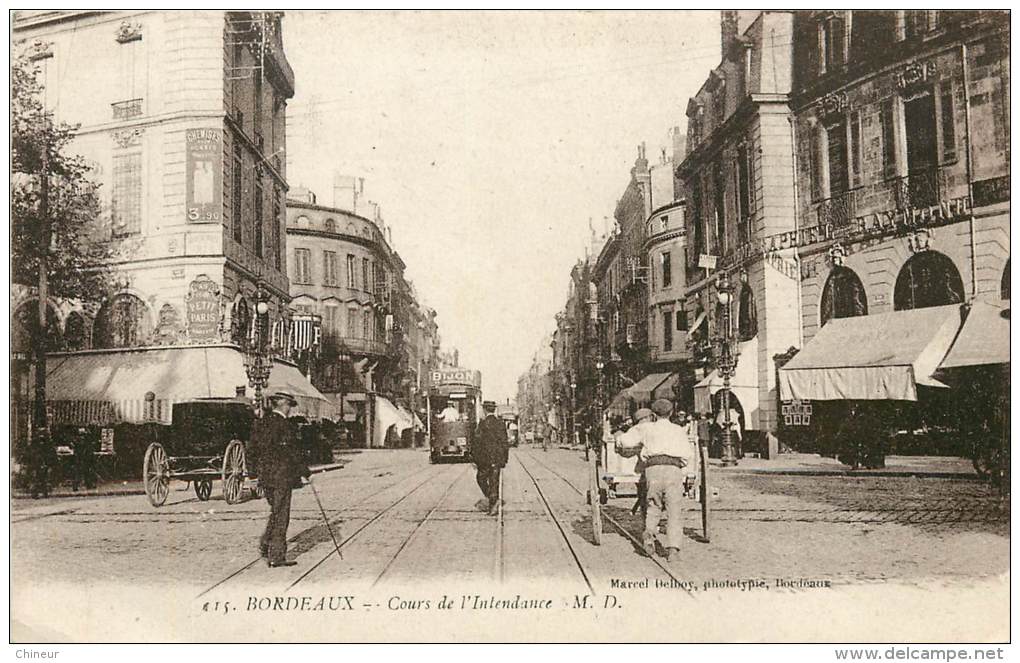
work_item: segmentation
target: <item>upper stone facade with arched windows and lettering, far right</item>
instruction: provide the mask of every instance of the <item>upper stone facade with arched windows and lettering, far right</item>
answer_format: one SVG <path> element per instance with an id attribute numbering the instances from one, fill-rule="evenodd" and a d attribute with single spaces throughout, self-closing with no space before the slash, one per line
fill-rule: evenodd
<path id="1" fill-rule="evenodd" d="M 836 317 L 1008 296 L 1008 16 L 797 23 L 804 343 Z"/>

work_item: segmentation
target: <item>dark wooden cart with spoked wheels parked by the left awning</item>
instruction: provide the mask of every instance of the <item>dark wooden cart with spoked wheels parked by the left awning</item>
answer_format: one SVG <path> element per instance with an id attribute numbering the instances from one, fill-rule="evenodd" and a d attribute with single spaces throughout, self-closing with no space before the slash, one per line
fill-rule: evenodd
<path id="1" fill-rule="evenodd" d="M 142 463 L 145 494 L 162 506 L 170 479 L 190 481 L 199 500 L 220 480 L 223 501 L 241 502 L 248 478 L 245 445 L 255 410 L 241 399 L 198 399 L 173 405 L 172 422 L 149 445 Z"/>

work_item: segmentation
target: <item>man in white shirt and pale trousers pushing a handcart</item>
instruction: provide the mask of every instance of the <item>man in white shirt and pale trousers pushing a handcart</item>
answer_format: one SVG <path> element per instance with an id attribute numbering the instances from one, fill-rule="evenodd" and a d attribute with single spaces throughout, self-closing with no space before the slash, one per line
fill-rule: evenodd
<path id="1" fill-rule="evenodd" d="M 659 533 L 659 521 L 666 514 L 666 555 L 670 564 L 680 558 L 680 544 L 683 541 L 683 477 L 694 471 L 697 451 L 691 444 L 687 430 L 669 420 L 673 404 L 666 399 L 652 403 L 656 420 L 634 426 L 636 444 L 628 440 L 621 450 L 639 448 L 641 463 L 645 466 L 648 486 L 647 512 L 645 515 L 645 552 L 655 554 L 655 541 Z M 629 431 L 628 431 L 629 435 Z"/>

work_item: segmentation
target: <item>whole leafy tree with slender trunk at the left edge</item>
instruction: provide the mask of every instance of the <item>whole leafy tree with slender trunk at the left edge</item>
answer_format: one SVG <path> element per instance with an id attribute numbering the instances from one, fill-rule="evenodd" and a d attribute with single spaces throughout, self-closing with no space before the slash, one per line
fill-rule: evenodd
<path id="1" fill-rule="evenodd" d="M 98 185 L 80 156 L 67 154 L 76 125 L 56 122 L 44 105 L 39 67 L 22 54 L 11 64 L 11 277 L 37 289 L 28 316 L 35 373 L 26 461 L 34 495 L 49 492 L 53 444 L 47 431 L 46 351 L 50 298 L 99 301 L 109 292 L 111 249 L 99 235 Z"/>

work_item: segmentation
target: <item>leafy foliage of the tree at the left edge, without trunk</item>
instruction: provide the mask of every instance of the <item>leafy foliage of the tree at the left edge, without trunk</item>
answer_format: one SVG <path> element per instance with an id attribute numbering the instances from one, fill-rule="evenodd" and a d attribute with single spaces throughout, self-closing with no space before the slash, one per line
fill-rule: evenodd
<path id="1" fill-rule="evenodd" d="M 68 154 L 78 125 L 56 122 L 44 107 L 39 67 L 21 55 L 11 66 L 11 275 L 35 286 L 47 258 L 50 295 L 96 301 L 109 292 L 112 247 L 101 236 L 99 185 Z M 42 204 L 49 178 L 48 214 Z M 49 233 L 44 232 L 49 222 Z M 49 236 L 49 237 L 46 237 Z"/>

